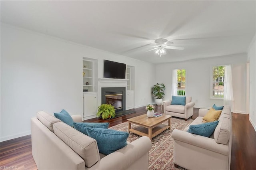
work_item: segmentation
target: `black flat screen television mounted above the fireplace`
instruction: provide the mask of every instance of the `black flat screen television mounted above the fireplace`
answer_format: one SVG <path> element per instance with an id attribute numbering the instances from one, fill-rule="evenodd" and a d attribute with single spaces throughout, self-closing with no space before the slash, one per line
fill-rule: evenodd
<path id="1" fill-rule="evenodd" d="M 104 60 L 103 77 L 125 79 L 126 64 Z"/>

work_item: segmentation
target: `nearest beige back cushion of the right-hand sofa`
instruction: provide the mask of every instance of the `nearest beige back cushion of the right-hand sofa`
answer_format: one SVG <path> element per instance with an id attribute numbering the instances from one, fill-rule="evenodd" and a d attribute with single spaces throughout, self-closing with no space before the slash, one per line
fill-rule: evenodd
<path id="1" fill-rule="evenodd" d="M 227 144 L 230 138 L 232 122 L 231 115 L 224 114 L 220 117 L 220 123 L 214 131 L 214 140 L 216 143 Z"/>

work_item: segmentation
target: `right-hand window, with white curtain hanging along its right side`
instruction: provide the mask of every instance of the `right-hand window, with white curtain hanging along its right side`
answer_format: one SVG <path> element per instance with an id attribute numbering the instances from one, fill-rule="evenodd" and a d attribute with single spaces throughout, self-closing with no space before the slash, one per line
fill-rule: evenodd
<path id="1" fill-rule="evenodd" d="M 212 91 L 211 97 L 223 98 L 225 66 L 212 67 Z"/>

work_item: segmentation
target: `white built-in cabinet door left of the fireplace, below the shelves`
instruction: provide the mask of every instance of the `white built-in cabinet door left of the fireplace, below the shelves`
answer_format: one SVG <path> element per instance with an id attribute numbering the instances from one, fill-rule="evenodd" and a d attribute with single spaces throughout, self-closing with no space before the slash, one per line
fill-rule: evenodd
<path id="1" fill-rule="evenodd" d="M 97 93 L 84 93 L 84 117 L 96 116 Z"/>

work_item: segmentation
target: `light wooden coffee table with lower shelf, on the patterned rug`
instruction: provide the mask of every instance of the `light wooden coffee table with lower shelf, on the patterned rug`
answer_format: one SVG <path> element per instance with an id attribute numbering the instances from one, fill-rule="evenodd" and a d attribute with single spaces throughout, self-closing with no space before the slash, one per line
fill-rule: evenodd
<path id="1" fill-rule="evenodd" d="M 147 117 L 147 114 L 127 119 L 128 130 L 134 134 L 140 136 L 148 136 L 150 140 L 162 133 L 166 129 L 171 128 L 171 117 L 170 115 L 162 115 L 160 117 Z M 168 121 L 168 125 L 164 125 L 165 121 Z M 131 128 L 131 123 L 138 125 L 138 127 Z"/>

